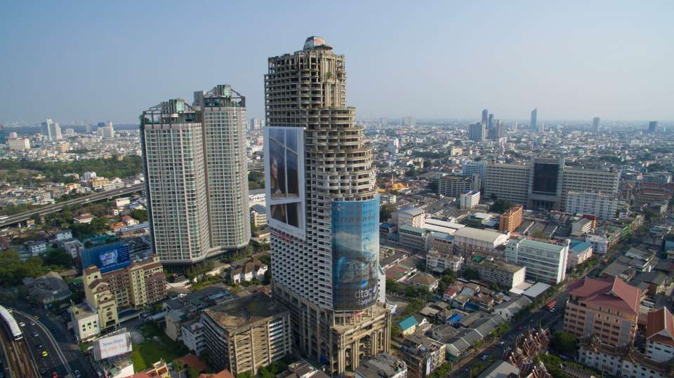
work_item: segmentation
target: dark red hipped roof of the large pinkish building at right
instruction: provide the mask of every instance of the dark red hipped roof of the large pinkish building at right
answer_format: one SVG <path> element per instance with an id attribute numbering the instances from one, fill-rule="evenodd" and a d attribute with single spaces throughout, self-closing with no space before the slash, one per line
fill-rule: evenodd
<path id="1" fill-rule="evenodd" d="M 621 278 L 614 277 L 607 280 L 585 278 L 569 282 L 569 289 L 572 296 L 579 297 L 584 302 L 639 314 L 641 290 L 628 285 Z"/>

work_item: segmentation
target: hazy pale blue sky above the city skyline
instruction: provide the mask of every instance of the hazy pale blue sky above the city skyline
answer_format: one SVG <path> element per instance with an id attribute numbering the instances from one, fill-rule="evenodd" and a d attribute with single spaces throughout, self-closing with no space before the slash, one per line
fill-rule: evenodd
<path id="1" fill-rule="evenodd" d="M 674 119 L 674 1 L 4 1 L 0 122 L 133 122 L 323 36 L 358 115 Z M 281 4 L 279 6 L 279 4 Z"/>

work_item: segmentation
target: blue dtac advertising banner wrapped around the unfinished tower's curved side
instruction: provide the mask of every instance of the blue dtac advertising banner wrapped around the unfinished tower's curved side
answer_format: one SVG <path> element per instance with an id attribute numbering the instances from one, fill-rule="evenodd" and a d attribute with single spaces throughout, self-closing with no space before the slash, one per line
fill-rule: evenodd
<path id="1" fill-rule="evenodd" d="M 332 203 L 333 309 L 359 311 L 379 290 L 379 197 Z"/>

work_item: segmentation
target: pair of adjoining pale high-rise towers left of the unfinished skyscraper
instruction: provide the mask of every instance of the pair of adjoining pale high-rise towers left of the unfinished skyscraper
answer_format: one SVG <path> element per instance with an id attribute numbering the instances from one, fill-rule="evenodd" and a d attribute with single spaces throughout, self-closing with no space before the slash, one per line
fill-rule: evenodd
<path id="1" fill-rule="evenodd" d="M 154 250 L 171 271 L 243 252 L 251 236 L 246 99 L 230 86 L 143 112 L 140 124 Z"/>

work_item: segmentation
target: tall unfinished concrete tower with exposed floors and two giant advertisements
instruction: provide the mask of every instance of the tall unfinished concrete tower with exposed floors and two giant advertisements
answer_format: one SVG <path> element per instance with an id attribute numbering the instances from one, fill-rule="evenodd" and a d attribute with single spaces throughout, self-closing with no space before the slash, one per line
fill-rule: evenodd
<path id="1" fill-rule="evenodd" d="M 372 149 L 346 104 L 345 58 L 324 39 L 310 36 L 268 69 L 272 290 L 291 309 L 294 347 L 341 375 L 390 348 Z"/>

